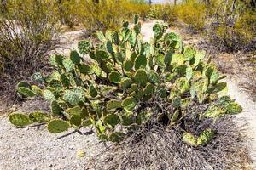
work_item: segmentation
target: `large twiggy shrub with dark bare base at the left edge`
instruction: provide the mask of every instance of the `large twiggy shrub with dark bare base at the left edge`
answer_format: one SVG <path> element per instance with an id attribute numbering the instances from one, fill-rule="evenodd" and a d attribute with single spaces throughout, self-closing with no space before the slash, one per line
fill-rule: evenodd
<path id="1" fill-rule="evenodd" d="M 10 0 L 7 8 L 0 16 L 2 70 L 31 75 L 57 43 L 55 6 L 47 0 Z"/>

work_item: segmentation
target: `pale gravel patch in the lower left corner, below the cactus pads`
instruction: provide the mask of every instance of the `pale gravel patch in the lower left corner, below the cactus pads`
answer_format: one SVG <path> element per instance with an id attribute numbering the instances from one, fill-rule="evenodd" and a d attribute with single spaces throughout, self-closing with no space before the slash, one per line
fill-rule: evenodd
<path id="1" fill-rule="evenodd" d="M 64 134 L 52 134 L 45 126 L 16 128 L 6 117 L 0 119 L 0 169 L 86 169 L 92 164 L 92 156 L 99 154 L 104 145 L 99 143 L 96 134 L 81 135 L 73 133 L 57 139 Z M 90 129 L 82 129 L 83 133 Z M 70 133 L 72 131 L 69 131 Z M 84 150 L 85 156 L 76 156 Z M 91 161 L 91 162 L 90 162 Z M 90 168 L 90 167 L 87 167 Z M 91 168 L 90 168 L 91 169 Z"/>

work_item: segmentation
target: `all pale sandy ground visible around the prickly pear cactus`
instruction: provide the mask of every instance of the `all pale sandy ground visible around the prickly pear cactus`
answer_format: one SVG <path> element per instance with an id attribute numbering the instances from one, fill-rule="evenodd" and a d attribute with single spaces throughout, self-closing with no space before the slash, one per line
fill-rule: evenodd
<path id="1" fill-rule="evenodd" d="M 143 23 L 142 34 L 145 41 L 149 41 L 153 35 L 154 21 Z M 77 48 L 83 31 L 70 31 L 63 35 L 63 48 L 57 51 L 61 54 L 69 54 L 70 49 Z M 184 40 L 185 43 L 191 40 Z M 70 48 L 71 47 L 71 48 Z M 253 138 L 249 141 L 251 156 L 256 160 L 256 104 L 248 98 L 241 88 L 238 88 L 235 79 L 227 79 L 232 98 L 244 108 L 241 117 L 247 118 L 248 135 Z M 29 109 L 27 109 L 29 110 Z M 73 133 L 65 138 L 57 139 L 63 134 L 48 133 L 44 126 L 27 127 L 18 129 L 7 120 L 7 116 L 0 118 L 0 170 L 44 170 L 44 169 L 93 169 L 84 167 L 90 164 L 91 156 L 98 154 L 104 145 L 96 139 L 95 133 L 80 135 Z M 83 133 L 90 129 L 82 129 Z M 78 150 L 84 150 L 85 156 L 76 156 Z M 254 161 L 256 162 L 256 161 Z"/>

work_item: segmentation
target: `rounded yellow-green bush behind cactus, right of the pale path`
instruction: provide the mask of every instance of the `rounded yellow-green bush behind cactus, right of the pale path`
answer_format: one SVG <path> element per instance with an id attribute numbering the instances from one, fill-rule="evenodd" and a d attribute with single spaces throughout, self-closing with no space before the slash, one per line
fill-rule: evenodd
<path id="1" fill-rule="evenodd" d="M 204 3 L 189 0 L 176 7 L 178 19 L 182 20 L 189 28 L 201 31 L 205 26 L 206 7 Z"/>

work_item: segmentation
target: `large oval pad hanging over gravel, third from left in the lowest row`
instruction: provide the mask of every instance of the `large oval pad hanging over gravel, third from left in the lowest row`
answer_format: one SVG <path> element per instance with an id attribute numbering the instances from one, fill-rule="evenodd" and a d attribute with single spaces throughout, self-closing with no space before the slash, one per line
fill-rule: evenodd
<path id="1" fill-rule="evenodd" d="M 52 120 L 48 123 L 47 129 L 50 133 L 62 133 L 68 130 L 70 124 L 60 119 Z"/>

